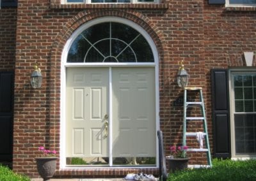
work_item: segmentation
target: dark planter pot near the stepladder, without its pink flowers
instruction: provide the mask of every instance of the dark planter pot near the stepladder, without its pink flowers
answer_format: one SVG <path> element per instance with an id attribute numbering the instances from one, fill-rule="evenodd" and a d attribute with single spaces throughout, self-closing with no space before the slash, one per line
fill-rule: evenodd
<path id="1" fill-rule="evenodd" d="M 174 172 L 177 170 L 184 170 L 188 168 L 189 158 L 172 158 L 166 157 L 168 163 L 169 172 Z"/>

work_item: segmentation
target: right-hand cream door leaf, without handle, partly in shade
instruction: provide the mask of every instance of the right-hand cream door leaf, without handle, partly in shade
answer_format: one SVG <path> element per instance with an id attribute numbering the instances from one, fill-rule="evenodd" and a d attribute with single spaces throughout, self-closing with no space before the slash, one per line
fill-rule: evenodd
<path id="1" fill-rule="evenodd" d="M 154 68 L 113 68 L 113 157 L 156 156 Z"/>

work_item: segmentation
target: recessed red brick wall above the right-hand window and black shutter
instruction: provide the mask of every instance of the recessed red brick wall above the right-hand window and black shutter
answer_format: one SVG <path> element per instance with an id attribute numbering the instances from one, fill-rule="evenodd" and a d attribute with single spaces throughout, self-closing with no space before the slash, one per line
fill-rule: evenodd
<path id="1" fill-rule="evenodd" d="M 212 130 L 210 70 L 246 66 L 243 52 L 249 51 L 255 54 L 256 50 L 255 23 L 255 8 L 225 8 L 224 5 L 209 5 L 205 1 L 205 96 L 209 131 Z M 255 66 L 255 56 L 253 66 Z M 212 136 L 210 138 L 211 141 Z"/>

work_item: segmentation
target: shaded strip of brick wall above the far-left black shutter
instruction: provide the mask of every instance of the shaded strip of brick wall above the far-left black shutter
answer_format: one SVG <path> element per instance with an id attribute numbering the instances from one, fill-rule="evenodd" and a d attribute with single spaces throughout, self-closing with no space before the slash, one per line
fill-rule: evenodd
<path id="1" fill-rule="evenodd" d="M 15 68 L 16 8 L 0 9 L 0 71 Z"/>

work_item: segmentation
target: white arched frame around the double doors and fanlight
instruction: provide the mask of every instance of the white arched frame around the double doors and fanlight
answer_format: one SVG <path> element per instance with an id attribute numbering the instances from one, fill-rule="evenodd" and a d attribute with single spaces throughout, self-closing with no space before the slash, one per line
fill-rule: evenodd
<path id="1" fill-rule="evenodd" d="M 102 22 L 118 22 L 118 23 L 122 23 L 122 24 L 126 24 L 129 25 L 131 27 L 133 27 L 134 29 L 136 29 L 136 31 L 138 31 L 139 33 L 141 33 L 141 35 L 143 35 L 143 37 L 147 40 L 148 44 L 150 45 L 150 48 L 152 49 L 152 53 L 154 55 L 154 62 L 132 62 L 132 63 L 115 63 L 115 62 L 110 62 L 110 63 L 101 63 L 101 62 L 97 62 L 97 63 L 67 63 L 67 55 L 68 55 L 68 50 L 70 49 L 73 41 L 76 39 L 76 37 L 81 34 L 84 29 L 87 29 L 88 27 L 95 25 L 95 24 L 100 24 Z M 71 36 L 70 38 L 67 40 L 67 43 L 65 45 L 65 47 L 63 48 L 63 52 L 61 55 L 61 107 L 60 107 L 60 168 L 61 169 L 65 169 L 67 168 L 66 166 L 66 157 L 65 157 L 65 122 L 66 122 L 66 116 L 65 116 L 65 109 L 66 109 L 66 68 L 68 67 L 109 67 L 109 78 L 111 80 L 111 67 L 154 67 L 155 68 L 155 89 L 156 89 L 156 167 L 159 168 L 159 150 L 158 150 L 158 140 L 157 140 L 157 130 L 159 129 L 159 55 L 157 52 L 157 48 L 156 45 L 154 44 L 154 41 L 152 40 L 152 38 L 149 36 L 149 34 L 142 28 L 140 27 L 138 24 L 135 24 L 134 22 L 132 22 L 131 20 L 126 20 L 124 18 L 119 18 L 119 17 L 102 17 L 102 18 L 97 18 L 96 20 L 92 20 L 90 22 L 87 22 L 83 25 L 81 25 L 81 27 L 79 27 Z M 109 100 L 111 100 L 111 87 L 112 87 L 112 82 L 109 81 Z M 109 107 L 109 120 L 111 119 L 111 115 L 112 115 L 112 110 L 111 110 L 111 105 Z M 109 122 L 109 127 L 111 127 L 111 122 Z M 109 130 L 109 140 L 111 140 L 112 138 L 112 133 L 111 130 Z M 112 159 L 112 150 L 111 150 L 111 141 L 109 141 L 109 163 L 112 163 L 111 159 Z M 109 165 L 111 166 L 111 165 Z M 70 168 L 70 167 L 68 167 Z M 78 168 L 78 167 L 72 167 L 74 169 Z M 79 167 L 81 168 L 81 167 Z M 95 167 L 93 167 L 95 168 Z M 111 167 L 109 167 L 111 168 Z M 115 167 L 116 168 L 116 167 Z M 125 166 L 122 168 L 125 168 Z M 131 167 L 129 167 L 131 168 Z M 138 168 L 138 167 L 136 167 Z M 149 167 L 147 167 L 149 168 Z M 155 167 L 154 167 L 155 168 Z"/>

